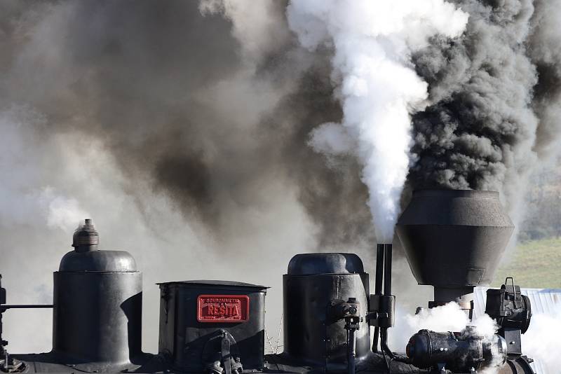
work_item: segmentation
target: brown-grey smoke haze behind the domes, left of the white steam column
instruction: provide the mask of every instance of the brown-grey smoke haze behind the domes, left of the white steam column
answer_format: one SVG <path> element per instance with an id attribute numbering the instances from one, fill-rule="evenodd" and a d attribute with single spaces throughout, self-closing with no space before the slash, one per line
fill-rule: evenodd
<path id="1" fill-rule="evenodd" d="M 273 286 L 275 335 L 292 255 L 374 242 L 356 160 L 333 169 L 308 146 L 314 126 L 342 116 L 330 51 L 297 47 L 284 3 L 236 4 L 0 4 L 10 302 L 48 302 L 88 214 L 101 248 L 130 251 L 144 271 L 144 349 L 156 350 L 154 283 L 166 280 Z M 48 350 L 50 314 L 21 316 L 4 319 L 11 352 Z"/>

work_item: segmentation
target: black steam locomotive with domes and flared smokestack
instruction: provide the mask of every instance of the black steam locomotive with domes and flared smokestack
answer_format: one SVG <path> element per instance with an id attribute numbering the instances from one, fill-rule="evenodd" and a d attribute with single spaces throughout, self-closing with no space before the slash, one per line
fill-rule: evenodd
<path id="1" fill-rule="evenodd" d="M 396 233 L 419 284 L 434 286 L 428 307 L 458 303 L 473 315 L 473 287 L 489 284 L 513 232 L 499 194 L 414 191 Z M 7 305 L 0 312 L 53 307 L 53 349 L 8 354 L 0 370 L 36 373 L 533 373 L 520 335 L 529 299 L 507 279 L 487 291 L 486 313 L 500 326 L 492 339 L 473 326 L 421 330 L 406 354 L 391 352 L 396 296 L 392 245 L 378 244 L 374 293 L 356 254 L 298 254 L 283 275 L 284 352 L 264 353 L 265 286 L 189 280 L 158 284 L 158 354 L 141 349 L 142 273 L 126 251 L 97 249 L 89 219 L 54 272 L 53 305 Z M 0 313 L 1 316 L 1 313 Z M 371 326 L 374 336 L 371 339 Z M 1 319 L 0 319 L 1 327 Z M 0 329 L 1 333 L 1 329 Z M 371 342 L 373 343 L 371 344 Z"/>

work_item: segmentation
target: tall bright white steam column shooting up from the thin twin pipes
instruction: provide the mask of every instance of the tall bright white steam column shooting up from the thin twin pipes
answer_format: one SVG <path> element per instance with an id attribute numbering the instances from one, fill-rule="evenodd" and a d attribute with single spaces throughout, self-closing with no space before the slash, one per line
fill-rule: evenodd
<path id="1" fill-rule="evenodd" d="M 459 36 L 467 20 L 443 0 L 295 0 L 288 6 L 289 26 L 304 48 L 334 50 L 332 81 L 343 129 L 334 138 L 333 124 L 325 124 L 313 132 L 311 145 L 323 153 L 356 154 L 378 240 L 391 241 L 399 213 L 410 161 L 410 113 L 426 106 L 427 85 L 410 55 L 436 34 Z"/>

